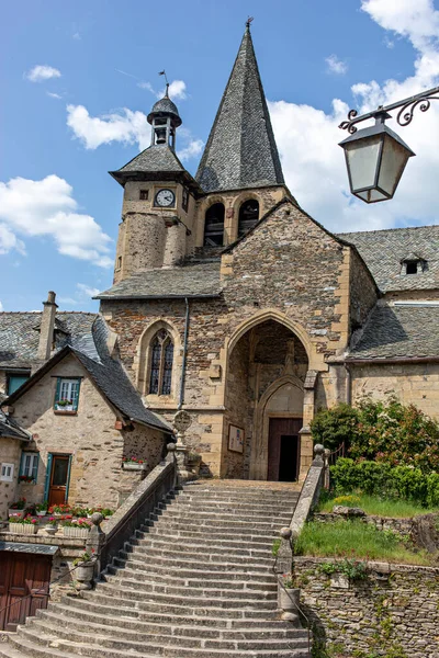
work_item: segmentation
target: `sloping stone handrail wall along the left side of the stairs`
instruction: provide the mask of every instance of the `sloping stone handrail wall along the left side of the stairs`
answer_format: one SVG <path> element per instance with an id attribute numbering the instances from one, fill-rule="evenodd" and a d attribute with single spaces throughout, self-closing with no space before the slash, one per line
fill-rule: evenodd
<path id="1" fill-rule="evenodd" d="M 134 535 L 157 504 L 173 489 L 176 484 L 176 461 L 169 453 L 166 461 L 156 466 L 134 489 L 125 502 L 109 521 L 101 525 L 99 547 L 100 569 L 103 570 Z"/>

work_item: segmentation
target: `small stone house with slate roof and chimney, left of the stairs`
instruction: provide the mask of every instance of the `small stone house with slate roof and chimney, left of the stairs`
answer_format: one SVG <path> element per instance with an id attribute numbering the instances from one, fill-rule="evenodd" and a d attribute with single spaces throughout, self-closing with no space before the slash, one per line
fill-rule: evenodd
<path id="1" fill-rule="evenodd" d="M 21 497 L 115 509 L 172 432 L 143 405 L 115 337 L 97 314 L 57 314 L 53 293 L 43 314 L 3 313 L 0 327 L 10 394 L 0 421 L 0 517 Z M 145 465 L 124 469 L 131 456 Z"/>

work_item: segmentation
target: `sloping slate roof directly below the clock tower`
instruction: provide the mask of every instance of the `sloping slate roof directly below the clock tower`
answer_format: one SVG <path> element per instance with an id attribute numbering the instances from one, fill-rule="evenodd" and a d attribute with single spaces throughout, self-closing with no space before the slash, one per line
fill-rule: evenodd
<path id="1" fill-rule="evenodd" d="M 219 261 L 216 261 L 140 272 L 100 293 L 97 299 L 216 297 L 219 293 Z"/>

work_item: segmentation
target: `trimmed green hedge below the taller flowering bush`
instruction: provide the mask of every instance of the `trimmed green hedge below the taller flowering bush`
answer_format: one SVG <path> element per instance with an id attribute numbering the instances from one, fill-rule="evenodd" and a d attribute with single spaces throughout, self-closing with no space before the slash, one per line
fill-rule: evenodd
<path id="1" fill-rule="evenodd" d="M 439 474 L 425 474 L 413 466 L 342 457 L 330 467 L 337 495 L 360 489 L 370 496 L 403 498 L 423 507 L 439 507 Z"/>

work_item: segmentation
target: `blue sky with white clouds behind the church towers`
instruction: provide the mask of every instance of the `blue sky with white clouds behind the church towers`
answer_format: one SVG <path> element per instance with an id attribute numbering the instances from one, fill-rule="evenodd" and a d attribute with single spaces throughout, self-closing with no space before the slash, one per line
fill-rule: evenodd
<path id="1" fill-rule="evenodd" d="M 108 171 L 147 146 L 158 71 L 173 81 L 178 150 L 194 173 L 248 15 L 303 207 L 335 231 L 437 222 L 436 109 L 398 128 L 418 157 L 381 207 L 349 196 L 337 146 L 348 107 L 438 84 L 432 0 L 22 0 L 3 5 L 0 26 L 4 310 L 40 309 L 48 290 L 64 309 L 98 309 L 90 294 L 112 281 L 123 192 Z"/>

